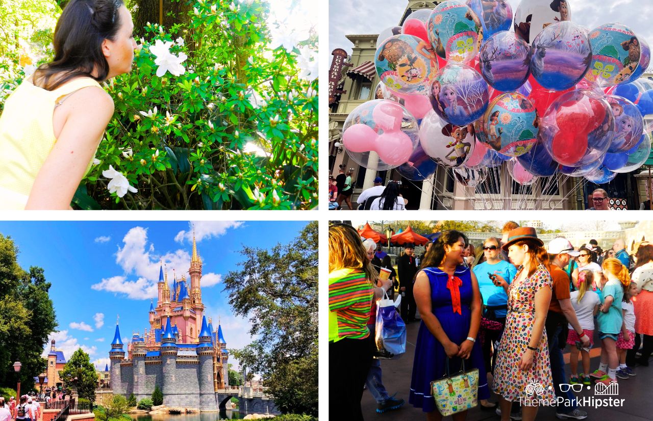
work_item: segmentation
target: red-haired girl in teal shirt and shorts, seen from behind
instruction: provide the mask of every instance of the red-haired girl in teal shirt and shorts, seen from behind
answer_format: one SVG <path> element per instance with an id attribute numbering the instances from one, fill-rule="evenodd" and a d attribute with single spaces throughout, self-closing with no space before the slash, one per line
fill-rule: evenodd
<path id="1" fill-rule="evenodd" d="M 610 384 L 616 382 L 619 365 L 616 341 L 623 324 L 621 304 L 624 288 L 628 288 L 630 276 L 628 268 L 616 258 L 606 259 L 601 267 L 606 279 L 601 290 L 601 307 L 596 317 L 601 339 L 601 363 L 590 377 L 596 379 L 597 383 Z"/>

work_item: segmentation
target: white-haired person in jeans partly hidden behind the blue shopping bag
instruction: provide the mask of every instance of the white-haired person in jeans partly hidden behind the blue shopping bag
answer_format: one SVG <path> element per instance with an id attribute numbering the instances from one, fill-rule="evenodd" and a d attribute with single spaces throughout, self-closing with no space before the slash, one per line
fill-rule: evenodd
<path id="1" fill-rule="evenodd" d="M 363 242 L 363 248 L 367 251 L 367 257 L 372 262 L 374 266 L 374 255 L 376 251 L 376 243 L 374 240 L 368 238 Z M 378 268 L 375 268 L 378 270 Z M 383 287 L 381 279 L 377 282 L 377 287 Z M 370 309 L 370 319 L 367 322 L 368 330 L 370 335 L 375 337 L 376 335 L 376 301 L 372 301 L 372 307 Z M 365 380 L 365 386 L 370 391 L 370 394 L 374 397 L 374 400 L 377 403 L 376 412 L 379 414 L 385 413 L 387 411 L 393 411 L 399 409 L 406 403 L 404 399 L 396 399 L 393 396 L 390 396 L 385 389 L 382 381 L 383 372 L 381 371 L 381 360 L 378 358 L 372 359 L 372 366 L 370 366 L 370 371 L 368 372 L 367 379 Z M 396 394 L 395 394 L 396 395 Z"/>

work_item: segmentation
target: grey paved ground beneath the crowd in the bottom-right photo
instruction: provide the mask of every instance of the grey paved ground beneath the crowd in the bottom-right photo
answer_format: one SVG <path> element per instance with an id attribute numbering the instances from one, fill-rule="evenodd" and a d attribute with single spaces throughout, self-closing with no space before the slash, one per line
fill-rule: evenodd
<path id="1" fill-rule="evenodd" d="M 376 413 L 376 402 L 372 398 L 372 394 L 367 390 L 363 393 L 361 406 L 366 421 L 381 421 L 381 420 L 424 420 L 426 416 L 422 413 L 421 409 L 413 407 L 408 403 L 408 392 L 410 388 L 411 372 L 413 369 L 413 354 L 415 352 L 415 341 L 417 340 L 417 331 L 419 330 L 419 322 L 413 322 L 407 326 L 407 343 L 406 354 L 398 360 L 381 360 L 381 367 L 383 369 L 383 384 L 385 384 L 390 395 L 396 392 L 396 398 L 406 400 L 404 407 L 397 411 L 389 411 L 383 414 Z M 592 349 L 592 370 L 596 369 L 599 365 L 599 352 L 600 344 L 595 339 L 595 349 Z M 596 349 L 596 348 L 599 349 Z M 598 351 L 598 352 L 597 352 Z M 565 362 L 569 361 L 569 354 L 565 354 Z M 629 379 L 618 379 L 619 381 L 619 396 L 614 398 L 625 399 L 624 407 L 601 407 L 594 409 L 594 407 L 582 407 L 583 411 L 588 413 L 587 420 L 619 420 L 619 421 L 643 421 L 653 420 L 653 359 L 650 367 L 637 367 L 637 376 Z M 580 366 L 580 362 L 579 362 Z M 581 366 L 582 367 L 582 366 Z M 569 374 L 569 367 L 567 367 L 567 375 Z M 594 390 L 583 390 L 575 394 L 578 397 L 592 397 Z M 603 397 L 602 397 L 603 398 Z M 605 397 L 609 398 L 609 397 Z M 493 396 L 490 401 L 498 401 L 498 398 Z M 480 405 L 479 405 L 480 406 Z M 336 419 L 336 418 L 331 418 Z M 451 418 L 445 418 L 451 419 Z M 469 421 L 477 420 L 499 420 L 500 417 L 494 411 L 481 411 L 478 407 L 469 411 L 467 419 Z M 537 420 L 556 420 L 555 409 L 552 407 L 541 407 L 537 412 Z"/>

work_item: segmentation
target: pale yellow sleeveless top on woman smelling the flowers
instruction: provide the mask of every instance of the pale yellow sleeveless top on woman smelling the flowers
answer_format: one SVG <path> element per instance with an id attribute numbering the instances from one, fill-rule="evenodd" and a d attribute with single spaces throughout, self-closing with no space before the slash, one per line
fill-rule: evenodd
<path id="1" fill-rule="evenodd" d="M 57 142 L 52 123 L 57 101 L 88 86 L 100 87 L 94 79 L 78 78 L 47 91 L 24 80 L 8 97 L 0 115 L 0 209 L 25 208 L 37 174 Z"/>

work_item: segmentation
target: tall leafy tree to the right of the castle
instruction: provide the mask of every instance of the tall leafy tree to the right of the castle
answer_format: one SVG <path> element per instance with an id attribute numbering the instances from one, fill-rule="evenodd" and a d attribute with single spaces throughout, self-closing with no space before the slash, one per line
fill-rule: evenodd
<path id="1" fill-rule="evenodd" d="M 317 416 L 317 247 L 311 222 L 289 244 L 244 247 L 242 270 L 225 278 L 234 314 L 257 337 L 232 355 L 262 375 L 282 413 Z"/>

